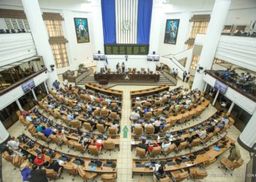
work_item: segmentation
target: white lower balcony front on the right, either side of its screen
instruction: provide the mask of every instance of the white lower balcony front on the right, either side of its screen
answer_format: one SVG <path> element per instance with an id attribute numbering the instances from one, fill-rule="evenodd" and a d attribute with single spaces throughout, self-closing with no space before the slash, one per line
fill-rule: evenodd
<path id="1" fill-rule="evenodd" d="M 203 80 L 204 82 L 210 84 L 211 87 L 214 87 L 214 84 L 217 79 L 208 74 L 204 74 Z M 241 95 L 239 92 L 236 92 L 236 90 L 227 87 L 227 91 L 225 92 L 224 95 L 225 97 L 236 103 L 236 105 L 247 111 L 249 114 L 253 114 L 256 111 L 256 103 L 250 100 L 249 98 L 246 98 L 244 95 Z"/>

